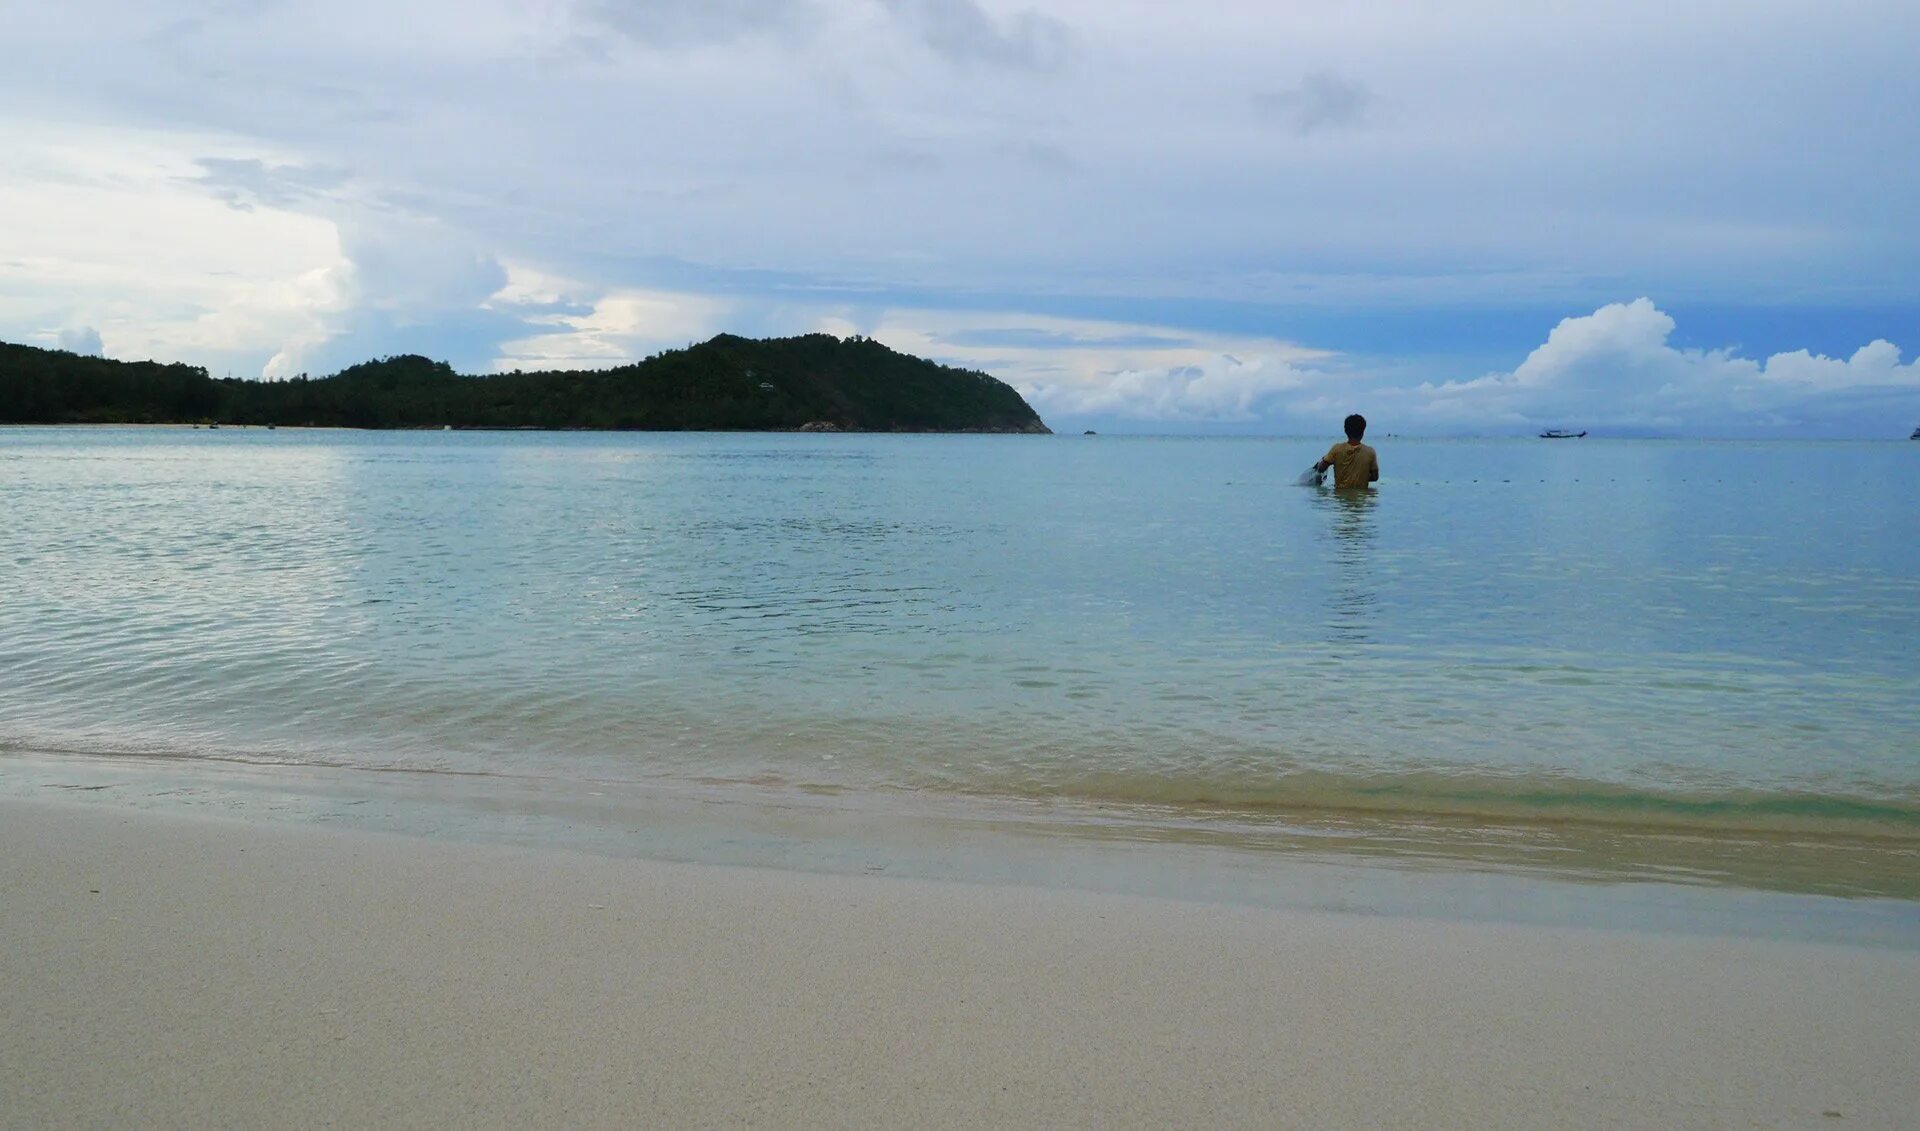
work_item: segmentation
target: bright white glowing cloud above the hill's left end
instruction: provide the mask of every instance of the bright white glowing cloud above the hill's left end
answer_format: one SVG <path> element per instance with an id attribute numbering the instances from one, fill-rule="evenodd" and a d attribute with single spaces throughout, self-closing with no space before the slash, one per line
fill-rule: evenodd
<path id="1" fill-rule="evenodd" d="M 528 330 L 486 307 L 505 282 L 488 240 L 246 138 L 23 129 L 0 209 L 0 336 L 90 326 L 113 357 L 290 376 L 401 351 L 484 365 Z"/>

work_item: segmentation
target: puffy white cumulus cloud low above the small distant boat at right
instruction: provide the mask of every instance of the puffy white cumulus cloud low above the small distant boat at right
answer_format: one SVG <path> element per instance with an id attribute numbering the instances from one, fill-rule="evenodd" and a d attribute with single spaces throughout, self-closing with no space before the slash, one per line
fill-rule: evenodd
<path id="1" fill-rule="evenodd" d="M 1920 363 L 1876 340 L 1851 357 L 1807 349 L 1766 359 L 1672 346 L 1674 319 L 1647 298 L 1563 319 L 1509 373 L 1402 390 L 1428 422 L 1580 424 L 1619 430 L 1874 434 L 1878 417 L 1920 419 Z"/>

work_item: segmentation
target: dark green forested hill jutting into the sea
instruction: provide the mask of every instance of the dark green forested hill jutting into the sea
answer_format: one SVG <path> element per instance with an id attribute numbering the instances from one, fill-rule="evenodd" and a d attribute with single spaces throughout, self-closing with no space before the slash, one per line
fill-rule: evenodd
<path id="1" fill-rule="evenodd" d="M 213 378 L 190 365 L 0 344 L 6 424 L 324 424 L 346 428 L 655 428 L 1046 432 L 1012 386 L 872 338 L 710 342 L 597 371 L 461 376 L 401 355 L 323 378 Z"/>

